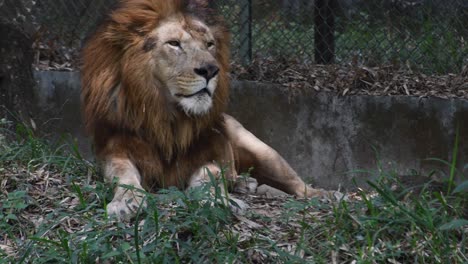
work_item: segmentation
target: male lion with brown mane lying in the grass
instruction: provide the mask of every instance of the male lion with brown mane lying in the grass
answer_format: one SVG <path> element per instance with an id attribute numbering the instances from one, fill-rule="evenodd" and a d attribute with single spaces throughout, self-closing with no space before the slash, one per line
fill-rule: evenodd
<path id="1" fill-rule="evenodd" d="M 272 148 L 223 114 L 229 34 L 201 0 L 123 0 L 84 48 L 82 105 L 104 178 L 120 184 L 109 215 L 129 219 L 135 188 L 187 188 L 252 176 L 299 197 L 307 186 Z"/>

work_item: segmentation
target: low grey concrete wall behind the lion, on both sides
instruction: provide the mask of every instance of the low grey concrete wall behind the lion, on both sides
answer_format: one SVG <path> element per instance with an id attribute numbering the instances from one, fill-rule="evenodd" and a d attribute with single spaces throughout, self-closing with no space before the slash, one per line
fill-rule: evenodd
<path id="1" fill-rule="evenodd" d="M 37 97 L 51 119 L 46 130 L 70 132 L 90 154 L 79 111 L 79 75 L 36 72 Z M 295 95 L 293 95 L 295 94 Z M 468 101 L 408 96 L 341 97 L 330 93 L 291 93 L 254 82 L 233 82 L 229 111 L 273 146 L 306 180 L 324 188 L 352 187 L 377 171 L 409 175 L 448 167 L 427 158 L 449 160 L 456 124 L 460 162 L 468 158 Z"/>

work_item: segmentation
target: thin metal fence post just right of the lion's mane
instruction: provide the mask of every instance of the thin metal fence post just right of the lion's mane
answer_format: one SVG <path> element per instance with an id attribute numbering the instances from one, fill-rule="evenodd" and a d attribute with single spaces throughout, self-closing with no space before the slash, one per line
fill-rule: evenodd
<path id="1" fill-rule="evenodd" d="M 252 0 L 241 0 L 240 50 L 239 56 L 244 65 L 252 61 Z"/>

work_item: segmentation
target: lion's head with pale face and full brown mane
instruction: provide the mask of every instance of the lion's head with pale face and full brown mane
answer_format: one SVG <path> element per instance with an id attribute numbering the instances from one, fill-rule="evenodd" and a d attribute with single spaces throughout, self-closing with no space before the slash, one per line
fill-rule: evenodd
<path id="1" fill-rule="evenodd" d="M 167 137 L 176 132 L 163 123 L 210 124 L 228 99 L 228 43 L 206 1 L 121 1 L 83 51 L 88 129 L 106 122 Z"/>

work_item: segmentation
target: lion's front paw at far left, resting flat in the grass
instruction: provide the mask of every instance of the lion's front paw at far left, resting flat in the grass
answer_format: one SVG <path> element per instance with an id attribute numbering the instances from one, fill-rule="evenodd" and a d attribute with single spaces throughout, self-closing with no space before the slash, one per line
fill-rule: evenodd
<path id="1" fill-rule="evenodd" d="M 119 220 L 129 221 L 138 212 L 138 208 L 146 207 L 144 195 L 138 191 L 126 190 L 123 193 L 116 193 L 112 202 L 107 205 L 107 215 L 115 216 Z"/>

